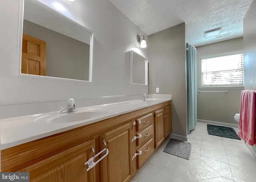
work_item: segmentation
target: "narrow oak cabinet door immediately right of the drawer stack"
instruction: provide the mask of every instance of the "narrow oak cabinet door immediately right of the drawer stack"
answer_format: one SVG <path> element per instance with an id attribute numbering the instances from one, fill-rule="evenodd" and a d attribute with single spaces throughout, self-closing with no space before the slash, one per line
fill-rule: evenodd
<path id="1" fill-rule="evenodd" d="M 156 148 L 164 141 L 164 109 L 155 112 L 155 141 Z"/>

